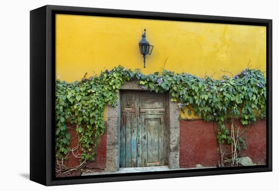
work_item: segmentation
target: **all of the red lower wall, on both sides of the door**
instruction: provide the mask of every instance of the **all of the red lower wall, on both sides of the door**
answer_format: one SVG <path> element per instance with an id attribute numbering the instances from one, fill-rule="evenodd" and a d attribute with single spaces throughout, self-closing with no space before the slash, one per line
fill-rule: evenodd
<path id="1" fill-rule="evenodd" d="M 239 121 L 235 121 L 243 128 Z M 78 144 L 76 126 L 68 124 L 68 133 L 71 134 L 70 148 L 74 148 Z M 243 155 L 249 156 L 254 163 L 266 163 L 266 121 L 258 120 L 252 124 L 248 130 L 247 150 L 243 150 Z M 203 166 L 216 166 L 219 160 L 218 144 L 213 129 L 213 122 L 205 122 L 203 120 L 180 121 L 180 167 L 190 168 L 196 164 Z M 85 166 L 89 169 L 106 168 L 107 160 L 107 131 L 99 139 L 96 149 L 95 161 L 86 162 Z M 68 167 L 79 165 L 79 159 L 72 153 L 68 155 L 65 161 Z"/>

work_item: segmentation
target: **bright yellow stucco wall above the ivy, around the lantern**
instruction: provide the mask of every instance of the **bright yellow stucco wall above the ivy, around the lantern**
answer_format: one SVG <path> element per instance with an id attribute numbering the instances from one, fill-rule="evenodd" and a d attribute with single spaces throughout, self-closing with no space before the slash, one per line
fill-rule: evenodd
<path id="1" fill-rule="evenodd" d="M 154 45 L 146 68 L 138 49 L 144 28 Z M 165 64 L 166 62 L 166 64 Z M 266 28 L 180 21 L 56 15 L 56 74 L 68 82 L 122 65 L 149 74 L 164 69 L 219 79 L 265 71 Z"/>

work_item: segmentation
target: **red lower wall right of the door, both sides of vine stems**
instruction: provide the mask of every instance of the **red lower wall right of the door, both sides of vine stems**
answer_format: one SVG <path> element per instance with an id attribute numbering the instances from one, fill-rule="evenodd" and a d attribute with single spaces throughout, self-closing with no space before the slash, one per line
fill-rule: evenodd
<path id="1" fill-rule="evenodd" d="M 240 130 L 243 126 L 235 121 Z M 249 156 L 254 163 L 265 164 L 266 161 L 266 121 L 258 120 L 248 130 L 247 150 L 243 155 Z M 180 121 L 180 167 L 217 166 L 219 161 L 218 144 L 213 122 L 203 120 Z"/>

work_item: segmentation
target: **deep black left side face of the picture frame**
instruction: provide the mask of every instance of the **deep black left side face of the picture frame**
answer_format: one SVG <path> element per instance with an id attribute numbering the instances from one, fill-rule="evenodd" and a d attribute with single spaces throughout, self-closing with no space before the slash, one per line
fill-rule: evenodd
<path id="1" fill-rule="evenodd" d="M 30 180 L 46 185 L 46 6 L 30 12 Z M 41 63 L 41 64 L 38 64 Z M 38 162 L 40 161 L 40 162 Z"/>

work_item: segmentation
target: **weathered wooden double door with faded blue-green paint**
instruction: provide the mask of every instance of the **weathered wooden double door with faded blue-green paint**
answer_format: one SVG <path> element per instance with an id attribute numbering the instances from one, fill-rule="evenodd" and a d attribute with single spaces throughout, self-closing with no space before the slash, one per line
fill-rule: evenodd
<path id="1" fill-rule="evenodd" d="M 166 94 L 121 93 L 120 167 L 167 164 Z"/>

